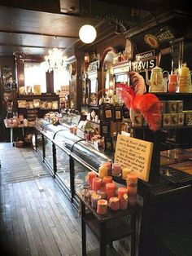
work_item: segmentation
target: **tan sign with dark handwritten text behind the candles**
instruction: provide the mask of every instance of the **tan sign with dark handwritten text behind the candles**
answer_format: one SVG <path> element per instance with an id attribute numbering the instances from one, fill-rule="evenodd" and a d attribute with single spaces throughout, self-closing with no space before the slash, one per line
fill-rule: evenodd
<path id="1" fill-rule="evenodd" d="M 135 171 L 139 179 L 149 181 L 153 143 L 135 139 L 126 135 L 118 135 L 115 161 L 121 166 Z"/>

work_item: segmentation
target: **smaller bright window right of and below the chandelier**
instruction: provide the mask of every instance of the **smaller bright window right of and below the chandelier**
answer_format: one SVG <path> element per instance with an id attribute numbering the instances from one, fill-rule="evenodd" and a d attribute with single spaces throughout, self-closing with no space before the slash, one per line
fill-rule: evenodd
<path id="1" fill-rule="evenodd" d="M 54 92 L 56 93 L 61 89 L 61 86 L 69 85 L 69 72 L 68 68 L 63 70 L 54 70 Z"/>

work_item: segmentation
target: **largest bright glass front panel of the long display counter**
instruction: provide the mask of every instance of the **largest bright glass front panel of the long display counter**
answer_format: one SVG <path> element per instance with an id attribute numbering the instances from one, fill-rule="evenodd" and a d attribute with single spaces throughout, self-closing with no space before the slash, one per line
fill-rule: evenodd
<path id="1" fill-rule="evenodd" d="M 69 156 L 61 148 L 56 146 L 56 162 L 57 162 L 57 175 L 70 189 L 70 167 L 69 167 Z"/>

